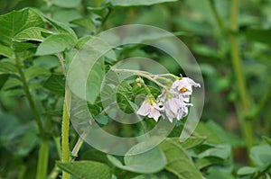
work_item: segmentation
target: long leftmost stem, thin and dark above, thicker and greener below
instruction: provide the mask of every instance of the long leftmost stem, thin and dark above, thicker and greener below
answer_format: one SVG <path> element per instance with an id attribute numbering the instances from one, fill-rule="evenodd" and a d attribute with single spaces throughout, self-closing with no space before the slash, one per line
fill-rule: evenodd
<path id="1" fill-rule="evenodd" d="M 18 58 L 14 58 L 16 67 L 18 68 L 19 75 L 21 77 L 22 83 L 23 83 L 23 91 L 25 93 L 25 96 L 27 98 L 27 101 L 30 105 L 30 108 L 33 112 L 34 120 L 36 121 L 41 138 L 42 138 L 42 144 L 39 151 L 39 159 L 38 159 L 38 166 L 37 166 L 37 179 L 45 179 L 47 175 L 47 166 L 48 166 L 48 156 L 49 156 L 49 146 L 48 146 L 48 139 L 45 135 L 45 131 L 42 127 L 42 120 L 40 118 L 39 112 L 37 111 L 36 105 L 33 102 L 32 95 L 30 94 L 30 89 L 27 85 L 26 78 L 23 74 L 23 67 L 20 63 L 20 60 Z"/>

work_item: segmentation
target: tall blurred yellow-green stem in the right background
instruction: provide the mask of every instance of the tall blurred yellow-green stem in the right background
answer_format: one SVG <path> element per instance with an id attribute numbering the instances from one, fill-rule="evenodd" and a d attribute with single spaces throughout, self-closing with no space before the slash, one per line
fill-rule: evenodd
<path id="1" fill-rule="evenodd" d="M 230 54 L 234 73 L 238 83 L 238 94 L 240 95 L 240 100 L 242 104 L 242 111 L 248 113 L 250 110 L 250 103 L 248 98 L 248 91 L 246 80 L 243 75 L 243 67 L 240 59 L 240 49 L 238 46 L 238 8 L 239 0 L 231 1 L 231 14 L 230 14 L 230 31 L 229 43 L 230 43 Z M 244 116 L 239 118 L 240 128 L 244 138 L 246 139 L 248 151 L 254 144 L 252 122 L 246 121 Z"/>

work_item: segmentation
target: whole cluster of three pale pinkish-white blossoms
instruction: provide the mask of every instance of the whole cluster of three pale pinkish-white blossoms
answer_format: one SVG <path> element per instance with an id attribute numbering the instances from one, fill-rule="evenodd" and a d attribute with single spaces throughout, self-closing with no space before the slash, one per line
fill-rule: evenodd
<path id="1" fill-rule="evenodd" d="M 188 107 L 192 106 L 190 96 L 192 95 L 192 86 L 201 87 L 200 84 L 195 83 L 189 77 L 181 77 L 173 82 L 169 90 L 163 90 L 163 93 L 154 100 L 153 96 L 147 97 L 145 102 L 140 106 L 137 114 L 154 118 L 158 121 L 163 113 L 167 116 L 168 120 L 173 122 L 176 118 L 180 121 L 187 116 Z"/>

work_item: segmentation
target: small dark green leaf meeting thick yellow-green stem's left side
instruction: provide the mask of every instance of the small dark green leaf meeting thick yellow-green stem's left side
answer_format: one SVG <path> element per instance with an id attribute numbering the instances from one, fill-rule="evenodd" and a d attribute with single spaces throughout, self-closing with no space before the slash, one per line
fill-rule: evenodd
<path id="1" fill-rule="evenodd" d="M 56 94 L 65 94 L 65 78 L 62 75 L 50 76 L 43 86 Z"/>

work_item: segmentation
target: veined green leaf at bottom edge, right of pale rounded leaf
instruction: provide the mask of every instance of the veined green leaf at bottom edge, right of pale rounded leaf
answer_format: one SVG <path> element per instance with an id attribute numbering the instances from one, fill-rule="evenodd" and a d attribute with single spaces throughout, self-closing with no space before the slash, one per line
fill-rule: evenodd
<path id="1" fill-rule="evenodd" d="M 172 172 L 183 179 L 197 178 L 201 179 L 203 176 L 192 162 L 182 146 L 172 139 L 165 139 L 160 148 L 164 151 L 167 158 L 168 165 L 165 169 Z"/>

